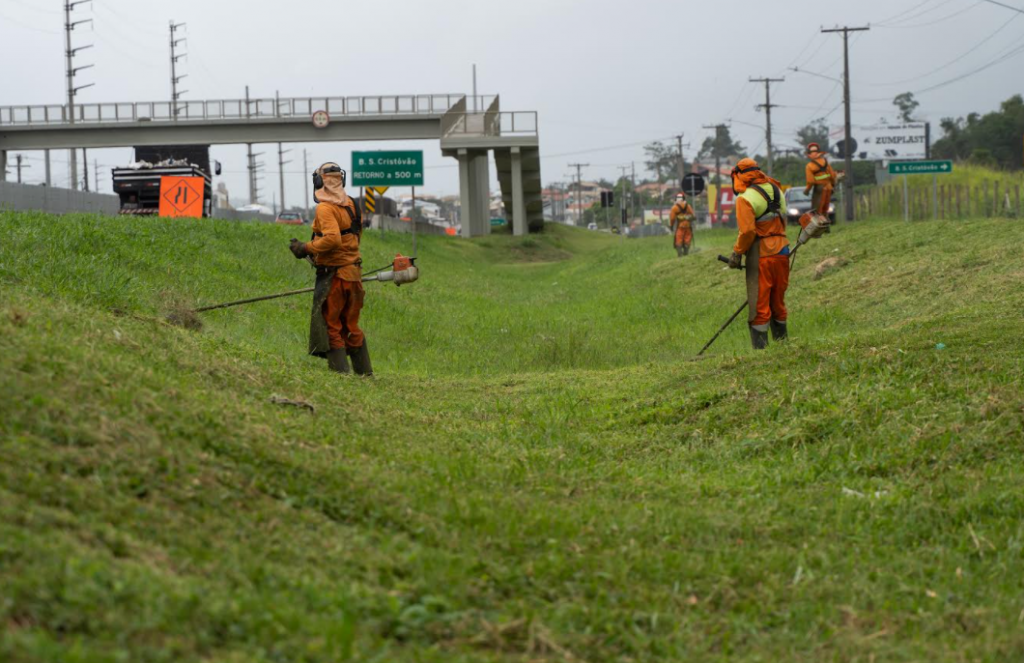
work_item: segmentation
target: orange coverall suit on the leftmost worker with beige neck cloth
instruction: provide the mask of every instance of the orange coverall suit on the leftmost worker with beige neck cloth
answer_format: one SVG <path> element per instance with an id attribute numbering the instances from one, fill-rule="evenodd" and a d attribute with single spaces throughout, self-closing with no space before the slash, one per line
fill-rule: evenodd
<path id="1" fill-rule="evenodd" d="M 324 302 L 331 349 L 361 347 L 365 337 L 359 329 L 362 310 L 362 258 L 359 236 L 352 230 L 355 203 L 345 205 L 319 203 L 313 220 L 313 240 L 306 250 L 313 254 L 317 267 L 337 267 L 331 290 Z"/>

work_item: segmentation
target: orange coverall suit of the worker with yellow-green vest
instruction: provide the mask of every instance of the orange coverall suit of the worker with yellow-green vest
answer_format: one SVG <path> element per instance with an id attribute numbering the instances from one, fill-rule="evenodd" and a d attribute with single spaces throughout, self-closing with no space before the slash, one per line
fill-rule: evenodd
<path id="1" fill-rule="evenodd" d="M 733 251 L 745 254 L 755 242 L 759 243 L 757 305 L 752 303 L 749 322 L 755 329 L 767 331 L 769 321 L 784 323 L 788 317 L 785 291 L 790 287 L 790 240 L 785 237 L 785 198 L 781 197 L 781 191 L 779 203 L 782 215 L 769 212 L 757 220 L 755 205 L 764 209 L 766 203 L 761 194 L 753 190 L 760 187 L 769 197 L 773 195 L 772 180 L 765 176 L 758 180 L 736 199 L 739 236 Z"/>

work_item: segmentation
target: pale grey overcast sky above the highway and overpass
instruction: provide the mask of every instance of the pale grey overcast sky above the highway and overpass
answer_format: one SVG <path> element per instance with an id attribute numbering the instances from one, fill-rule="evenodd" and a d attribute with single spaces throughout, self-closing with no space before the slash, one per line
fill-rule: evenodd
<path id="1" fill-rule="evenodd" d="M 1002 0 L 1021 7 L 1024 0 Z M 63 0 L 0 0 L 0 106 L 65 100 Z M 187 23 L 189 99 L 468 92 L 501 94 L 506 111 L 538 111 L 543 176 L 569 179 L 568 163 L 591 164 L 585 178 L 613 178 L 618 166 L 642 168 L 644 142 L 684 132 L 689 156 L 703 125 L 732 120 L 734 134 L 763 153 L 763 86 L 748 78 L 784 76 L 772 101 L 775 142 L 796 144 L 809 120 L 842 121 L 837 83 L 842 37 L 821 27 L 872 26 L 851 37 L 854 122 L 893 118 L 890 100 L 916 91 L 919 115 L 994 110 L 1024 92 L 1024 17 L 986 0 L 775 0 L 752 11 L 743 3 L 691 0 L 94 0 L 76 9 L 93 18 L 76 31 L 94 43 L 79 65 L 95 64 L 79 84 L 95 87 L 79 102 L 164 100 L 170 95 L 168 23 Z M 742 35 L 751 41 L 743 43 Z M 998 61 L 999 58 L 1005 58 Z M 997 64 L 993 64 L 997 63 Z M 983 69 L 986 66 L 987 69 Z M 962 80 L 954 81 L 968 75 Z M 948 85 L 941 85 L 949 81 Z M 931 91 L 925 91 L 936 87 Z M 755 126 L 752 126 L 755 125 Z M 286 166 L 290 203 L 303 197 L 302 149 L 310 164 L 346 167 L 352 149 L 422 148 L 425 191 L 458 192 L 454 160 L 435 142 L 313 143 Z M 614 148 L 614 149 L 612 149 Z M 275 147 L 267 154 L 265 202 L 278 188 Z M 216 147 L 232 198 L 247 197 L 245 151 Z M 41 154 L 27 154 L 29 181 L 41 180 Z M 100 190 L 127 150 L 94 151 Z M 54 154 L 55 184 L 66 185 L 67 153 Z M 90 169 L 92 164 L 90 163 Z M 639 173 L 638 173 L 639 174 Z"/>

